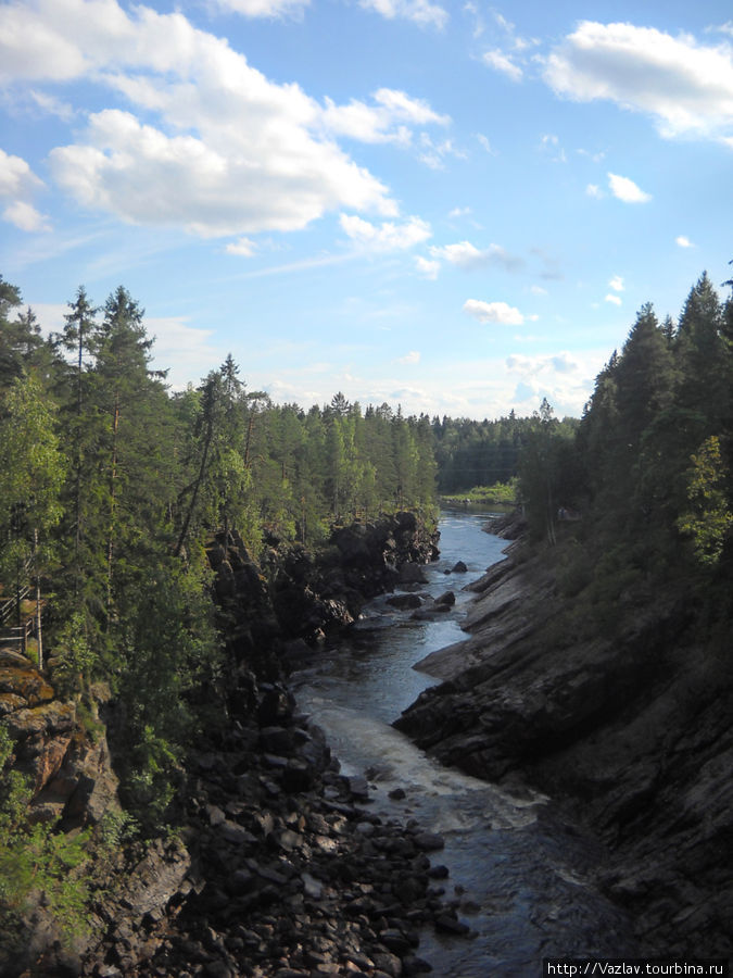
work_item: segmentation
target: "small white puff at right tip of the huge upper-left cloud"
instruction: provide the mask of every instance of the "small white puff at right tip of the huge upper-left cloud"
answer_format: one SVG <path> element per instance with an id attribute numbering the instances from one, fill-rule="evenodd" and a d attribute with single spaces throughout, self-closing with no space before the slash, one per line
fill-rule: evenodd
<path id="1" fill-rule="evenodd" d="M 324 126 L 361 142 L 408 143 L 409 126 L 445 126 L 451 122 L 450 116 L 439 115 L 427 102 L 413 99 L 404 91 L 380 88 L 374 93 L 374 105 L 354 99 L 347 105 L 337 105 L 327 98 Z"/>

